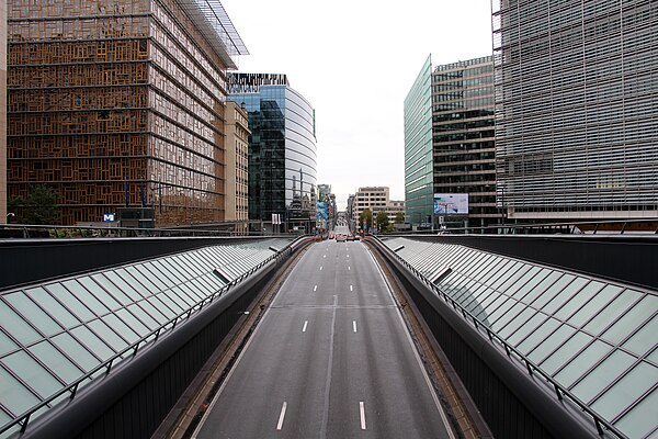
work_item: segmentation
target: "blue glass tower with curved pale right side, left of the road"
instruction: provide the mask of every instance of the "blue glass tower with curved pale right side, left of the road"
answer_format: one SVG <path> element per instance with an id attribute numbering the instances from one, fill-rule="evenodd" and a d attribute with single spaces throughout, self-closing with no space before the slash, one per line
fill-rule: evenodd
<path id="1" fill-rule="evenodd" d="M 315 224 L 315 110 L 285 75 L 237 72 L 229 82 L 229 99 L 249 114 L 249 219 Z"/>

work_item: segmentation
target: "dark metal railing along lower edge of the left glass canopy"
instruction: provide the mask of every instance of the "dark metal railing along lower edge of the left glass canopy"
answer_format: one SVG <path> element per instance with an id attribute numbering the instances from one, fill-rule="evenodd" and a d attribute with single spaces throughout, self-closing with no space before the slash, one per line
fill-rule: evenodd
<path id="1" fill-rule="evenodd" d="M 196 314 L 196 313 L 201 312 L 205 306 L 212 304 L 216 299 L 222 297 L 225 293 L 227 293 L 234 286 L 238 285 L 239 283 L 245 281 L 247 278 L 254 274 L 257 271 L 259 271 L 261 268 L 263 268 L 271 261 L 276 260 L 276 262 L 279 262 L 281 260 L 281 258 L 290 256 L 290 254 L 293 251 L 293 245 L 295 243 L 297 243 L 297 240 L 303 239 L 303 238 L 304 237 L 299 237 L 298 239 L 290 243 L 283 249 L 275 252 L 274 255 L 268 257 L 263 261 L 259 262 L 257 266 L 252 267 L 249 271 L 247 271 L 247 272 L 242 273 L 240 277 L 234 279 L 232 281 L 230 281 L 229 283 L 224 285 L 222 289 L 213 292 L 207 297 L 204 297 L 201 301 L 196 302 L 194 305 L 192 305 L 186 311 L 183 311 L 182 313 L 178 314 L 177 316 L 169 319 L 164 324 L 160 325 L 158 328 L 151 330 L 146 336 L 141 337 L 139 340 L 133 342 L 132 345 L 127 346 L 126 348 L 124 348 L 123 350 L 117 352 L 116 354 L 112 356 L 110 359 L 101 362 L 98 367 L 93 368 L 91 371 L 87 372 L 84 375 L 80 376 L 72 383 L 68 384 L 67 386 L 65 386 L 57 393 L 53 394 L 52 396 L 42 401 L 39 404 L 25 410 L 24 413 L 19 415 L 16 418 L 11 420 L 10 423 L 0 427 L 0 435 L 4 434 L 5 431 L 10 430 L 11 428 L 15 427 L 16 425 L 20 426 L 21 434 L 25 432 L 32 415 L 34 415 L 36 412 L 48 406 L 50 403 L 59 399 L 59 397 L 61 397 L 63 395 L 69 394 L 69 399 L 73 399 L 76 397 L 76 395 L 78 394 L 78 390 L 82 383 L 84 383 L 88 380 L 90 380 L 90 381 L 93 380 L 95 378 L 94 375 L 97 375 L 99 372 L 102 372 L 103 375 L 109 375 L 111 373 L 112 368 L 115 364 L 115 362 L 118 362 L 122 359 L 127 359 L 127 357 L 124 357 L 126 353 L 129 353 L 129 357 L 134 358 L 137 354 L 137 352 L 139 351 L 139 349 L 143 349 L 146 346 L 157 342 L 163 333 L 173 330 L 179 324 L 188 320 L 192 316 L 192 314 Z"/>

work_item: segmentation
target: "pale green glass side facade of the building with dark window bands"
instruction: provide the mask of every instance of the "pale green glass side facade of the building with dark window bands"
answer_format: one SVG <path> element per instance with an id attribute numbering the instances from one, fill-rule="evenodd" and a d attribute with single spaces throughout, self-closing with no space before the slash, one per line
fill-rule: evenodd
<path id="1" fill-rule="evenodd" d="M 432 177 L 432 59 L 428 57 L 405 99 L 405 221 L 430 224 Z"/>

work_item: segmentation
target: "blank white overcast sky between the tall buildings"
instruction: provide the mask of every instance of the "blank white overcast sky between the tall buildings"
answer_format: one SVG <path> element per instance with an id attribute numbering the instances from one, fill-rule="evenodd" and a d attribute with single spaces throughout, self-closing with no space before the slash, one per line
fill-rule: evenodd
<path id="1" fill-rule="evenodd" d="M 427 57 L 491 54 L 489 0 L 220 0 L 250 55 L 239 71 L 287 75 L 316 111 L 318 183 L 338 209 L 365 185 L 405 199 L 404 101 Z"/>

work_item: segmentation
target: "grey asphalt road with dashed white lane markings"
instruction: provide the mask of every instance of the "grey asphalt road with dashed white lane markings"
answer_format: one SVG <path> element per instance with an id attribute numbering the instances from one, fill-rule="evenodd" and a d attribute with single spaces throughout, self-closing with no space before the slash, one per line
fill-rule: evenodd
<path id="1" fill-rule="evenodd" d="M 445 415 L 361 241 L 311 245 L 193 438 L 449 438 Z"/>

